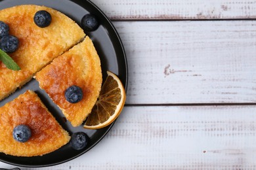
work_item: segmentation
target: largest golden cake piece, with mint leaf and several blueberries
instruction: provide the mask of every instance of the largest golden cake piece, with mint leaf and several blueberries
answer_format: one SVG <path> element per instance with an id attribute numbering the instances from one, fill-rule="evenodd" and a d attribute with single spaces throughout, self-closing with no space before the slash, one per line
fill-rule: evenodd
<path id="1" fill-rule="evenodd" d="M 51 14 L 52 20 L 48 27 L 38 27 L 33 22 L 38 10 L 46 10 Z M 10 35 L 18 38 L 18 49 L 9 55 L 21 68 L 20 71 L 12 71 L 0 61 L 0 101 L 85 37 L 83 29 L 73 20 L 48 7 L 20 5 L 3 9 L 0 10 L 0 21 L 9 25 Z"/>

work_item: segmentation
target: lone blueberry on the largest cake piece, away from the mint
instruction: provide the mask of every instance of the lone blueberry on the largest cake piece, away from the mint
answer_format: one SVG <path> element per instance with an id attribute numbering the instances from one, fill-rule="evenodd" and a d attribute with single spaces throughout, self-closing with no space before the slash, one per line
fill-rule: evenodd
<path id="1" fill-rule="evenodd" d="M 46 10 L 39 10 L 33 16 L 33 22 L 39 27 L 48 27 L 51 24 L 52 17 Z"/>

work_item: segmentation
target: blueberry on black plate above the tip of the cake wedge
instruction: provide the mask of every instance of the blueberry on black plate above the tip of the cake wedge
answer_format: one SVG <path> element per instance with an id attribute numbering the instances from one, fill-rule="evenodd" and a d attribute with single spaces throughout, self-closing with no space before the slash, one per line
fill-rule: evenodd
<path id="1" fill-rule="evenodd" d="M 98 28 L 98 20 L 92 14 L 83 16 L 81 24 L 85 31 L 95 31 Z"/>

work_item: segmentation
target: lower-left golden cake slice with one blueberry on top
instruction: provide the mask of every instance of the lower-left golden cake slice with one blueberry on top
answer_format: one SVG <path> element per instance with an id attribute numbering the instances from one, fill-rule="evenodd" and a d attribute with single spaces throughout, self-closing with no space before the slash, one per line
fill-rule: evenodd
<path id="1" fill-rule="evenodd" d="M 28 126 L 32 131 L 24 143 L 12 136 L 14 127 L 19 125 Z M 70 141 L 68 132 L 30 90 L 0 108 L 0 131 L 0 152 L 12 156 L 41 156 Z"/>

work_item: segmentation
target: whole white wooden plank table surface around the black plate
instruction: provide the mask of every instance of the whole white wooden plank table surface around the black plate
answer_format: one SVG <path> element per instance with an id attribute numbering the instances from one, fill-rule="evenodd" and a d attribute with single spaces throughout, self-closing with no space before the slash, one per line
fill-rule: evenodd
<path id="1" fill-rule="evenodd" d="M 93 3 L 127 52 L 126 105 L 93 149 L 42 169 L 256 169 L 256 1 Z"/>

